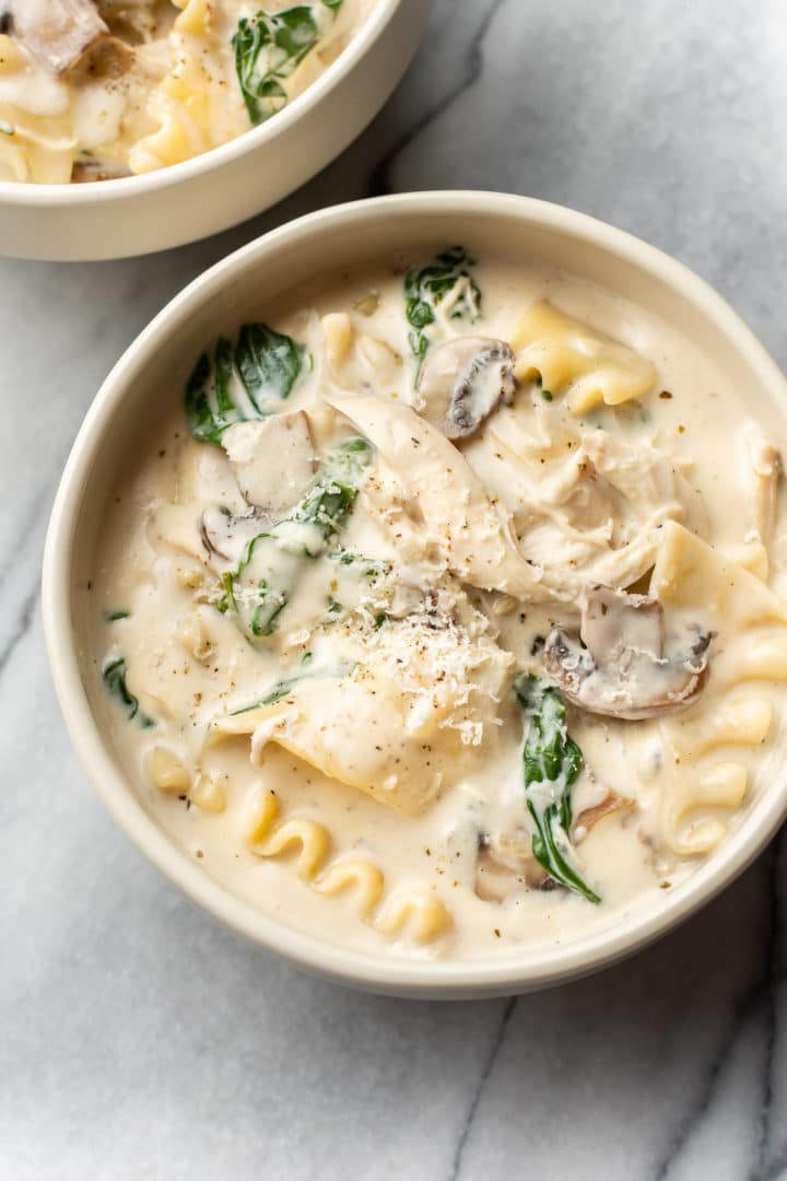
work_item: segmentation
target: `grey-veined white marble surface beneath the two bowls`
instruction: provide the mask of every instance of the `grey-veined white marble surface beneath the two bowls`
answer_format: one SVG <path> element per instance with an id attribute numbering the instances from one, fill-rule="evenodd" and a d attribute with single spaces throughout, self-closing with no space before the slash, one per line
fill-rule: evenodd
<path id="1" fill-rule="evenodd" d="M 50 683 L 39 563 L 101 378 L 192 275 L 369 193 L 511 189 L 630 229 L 787 361 L 783 0 L 438 0 L 361 139 L 268 215 L 156 257 L 0 261 L 0 1176 L 787 1169 L 787 844 L 595 979 L 519 1000 L 355 996 L 197 913 L 116 830 Z"/>

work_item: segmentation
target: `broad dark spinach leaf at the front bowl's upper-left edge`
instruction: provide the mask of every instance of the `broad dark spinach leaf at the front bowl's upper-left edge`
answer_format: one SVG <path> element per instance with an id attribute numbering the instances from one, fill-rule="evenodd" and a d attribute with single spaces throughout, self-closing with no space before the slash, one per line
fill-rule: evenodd
<path id="1" fill-rule="evenodd" d="M 185 390 L 189 429 L 201 443 L 221 443 L 235 423 L 280 409 L 311 358 L 304 345 L 267 324 L 244 324 L 237 341 L 221 338 L 203 353 Z"/>

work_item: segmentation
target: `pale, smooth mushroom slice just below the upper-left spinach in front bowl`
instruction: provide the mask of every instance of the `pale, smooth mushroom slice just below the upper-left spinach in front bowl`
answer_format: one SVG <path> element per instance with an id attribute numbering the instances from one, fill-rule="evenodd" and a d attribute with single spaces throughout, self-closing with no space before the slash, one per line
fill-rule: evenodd
<path id="1" fill-rule="evenodd" d="M 270 516 L 296 504 L 314 479 L 315 446 L 302 410 L 236 423 L 223 444 L 244 497 Z"/>

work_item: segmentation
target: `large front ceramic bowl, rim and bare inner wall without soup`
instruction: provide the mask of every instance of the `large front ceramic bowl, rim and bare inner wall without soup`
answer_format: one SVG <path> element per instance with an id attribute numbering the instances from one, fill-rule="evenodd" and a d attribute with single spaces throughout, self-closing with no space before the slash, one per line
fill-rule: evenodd
<path id="1" fill-rule="evenodd" d="M 678 326 L 747 399 L 775 399 L 787 413 L 787 383 L 729 306 L 678 262 L 643 242 L 557 205 L 488 193 L 426 193 L 322 210 L 244 247 L 192 282 L 156 317 L 104 383 L 66 465 L 44 561 L 44 618 L 60 704 L 98 794 L 151 861 L 206 911 L 264 947 L 314 972 L 366 988 L 421 997 L 525 992 L 599 968 L 629 954 L 706 903 L 740 874 L 787 811 L 787 768 L 741 823 L 683 885 L 650 911 L 632 908 L 614 929 L 551 950 L 487 961 L 393 959 L 335 946 L 287 927 L 240 901 L 181 852 L 145 813 L 101 735 L 84 685 L 88 595 L 97 530 L 117 470 L 133 462 L 145 407 L 181 397 L 171 380 L 218 326 L 238 321 L 265 296 L 313 274 L 395 248 L 464 241 L 476 252 L 534 256 L 624 294 Z M 171 390 L 171 394 L 165 391 Z"/>

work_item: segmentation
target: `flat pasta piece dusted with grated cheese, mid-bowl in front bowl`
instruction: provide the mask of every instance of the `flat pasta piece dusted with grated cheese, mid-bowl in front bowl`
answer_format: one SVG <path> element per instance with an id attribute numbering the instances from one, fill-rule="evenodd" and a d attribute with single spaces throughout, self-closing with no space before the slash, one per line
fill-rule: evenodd
<path id="1" fill-rule="evenodd" d="M 211 740 L 251 737 L 323 775 L 415 815 L 467 769 L 493 735 L 512 658 L 484 635 L 389 622 L 348 676 L 307 679 L 270 704 L 214 720 Z"/>

